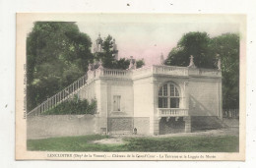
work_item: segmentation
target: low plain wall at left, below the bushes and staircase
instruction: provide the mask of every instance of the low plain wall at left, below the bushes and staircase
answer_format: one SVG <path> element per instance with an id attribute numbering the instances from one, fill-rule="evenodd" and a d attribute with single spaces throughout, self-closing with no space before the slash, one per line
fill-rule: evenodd
<path id="1" fill-rule="evenodd" d="M 94 115 L 45 115 L 27 119 L 27 138 L 45 139 L 96 134 L 98 118 Z"/>

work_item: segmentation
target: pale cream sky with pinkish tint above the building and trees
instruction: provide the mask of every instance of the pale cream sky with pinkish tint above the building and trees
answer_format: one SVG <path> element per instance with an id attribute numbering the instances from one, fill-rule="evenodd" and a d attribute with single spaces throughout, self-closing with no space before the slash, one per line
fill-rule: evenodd
<path id="1" fill-rule="evenodd" d="M 239 32 L 236 21 L 224 16 L 99 15 L 92 18 L 79 21 L 77 25 L 89 34 L 93 45 L 98 33 L 102 39 L 110 34 L 115 38 L 119 58 L 144 58 L 146 65 L 160 64 L 160 54 L 166 58 L 182 35 L 189 31 L 206 31 L 210 37 Z"/>

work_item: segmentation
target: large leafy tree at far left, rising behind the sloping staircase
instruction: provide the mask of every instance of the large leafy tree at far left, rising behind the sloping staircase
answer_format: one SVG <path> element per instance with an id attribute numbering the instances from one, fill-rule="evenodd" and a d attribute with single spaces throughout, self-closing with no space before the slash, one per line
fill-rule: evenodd
<path id="1" fill-rule="evenodd" d="M 85 74 L 90 37 L 71 22 L 35 22 L 27 38 L 28 110 Z"/>

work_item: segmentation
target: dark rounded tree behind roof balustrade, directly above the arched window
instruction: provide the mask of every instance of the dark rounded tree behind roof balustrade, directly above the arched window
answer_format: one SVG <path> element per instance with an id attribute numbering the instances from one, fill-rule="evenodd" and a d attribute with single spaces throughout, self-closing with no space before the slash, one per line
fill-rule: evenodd
<path id="1" fill-rule="evenodd" d="M 166 65 L 189 65 L 190 55 L 194 56 L 195 65 L 199 68 L 213 68 L 213 59 L 209 56 L 210 37 L 206 32 L 188 32 L 184 34 L 168 54 Z"/>

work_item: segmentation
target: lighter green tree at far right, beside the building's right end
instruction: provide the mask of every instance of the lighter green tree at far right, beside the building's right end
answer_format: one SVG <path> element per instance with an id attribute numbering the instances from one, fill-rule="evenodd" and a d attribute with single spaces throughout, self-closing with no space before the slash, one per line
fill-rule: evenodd
<path id="1" fill-rule="evenodd" d="M 209 45 L 212 57 L 222 60 L 224 108 L 239 108 L 239 35 L 224 33 Z"/>

